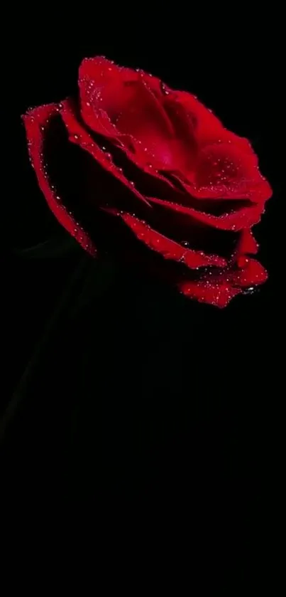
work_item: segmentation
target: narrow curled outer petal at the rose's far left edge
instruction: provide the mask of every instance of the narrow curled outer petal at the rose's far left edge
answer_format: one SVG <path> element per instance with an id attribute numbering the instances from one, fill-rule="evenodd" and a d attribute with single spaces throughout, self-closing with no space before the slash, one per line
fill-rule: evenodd
<path id="1" fill-rule="evenodd" d="M 76 238 L 78 243 L 91 255 L 95 255 L 96 248 L 88 234 L 79 227 L 72 213 L 61 204 L 60 196 L 48 179 L 46 164 L 44 162 L 43 144 L 45 133 L 50 127 L 53 117 L 58 116 L 59 107 L 57 104 L 43 105 L 30 110 L 23 116 L 28 139 L 28 149 L 38 184 L 45 195 L 48 206 L 55 214 L 57 220 L 65 227 L 67 232 Z"/>

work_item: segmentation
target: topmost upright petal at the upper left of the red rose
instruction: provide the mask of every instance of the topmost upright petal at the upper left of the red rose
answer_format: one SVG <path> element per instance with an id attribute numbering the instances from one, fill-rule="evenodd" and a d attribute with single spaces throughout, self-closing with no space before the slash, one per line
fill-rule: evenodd
<path id="1" fill-rule="evenodd" d="M 141 141 L 148 152 L 160 151 L 173 131 L 158 99 L 139 73 L 105 58 L 83 60 L 79 67 L 82 117 L 96 132 L 116 137 L 116 131 Z M 161 149 L 160 153 L 164 153 Z"/>

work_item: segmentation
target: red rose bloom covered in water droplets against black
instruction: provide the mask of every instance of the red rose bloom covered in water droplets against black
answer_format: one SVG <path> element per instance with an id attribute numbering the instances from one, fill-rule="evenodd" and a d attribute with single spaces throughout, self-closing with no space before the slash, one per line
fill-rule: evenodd
<path id="1" fill-rule="evenodd" d="M 50 208 L 92 255 L 116 251 L 219 307 L 266 279 L 251 228 L 270 185 L 249 142 L 194 95 L 87 58 L 79 97 L 24 122 Z"/>

